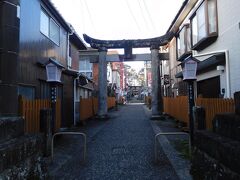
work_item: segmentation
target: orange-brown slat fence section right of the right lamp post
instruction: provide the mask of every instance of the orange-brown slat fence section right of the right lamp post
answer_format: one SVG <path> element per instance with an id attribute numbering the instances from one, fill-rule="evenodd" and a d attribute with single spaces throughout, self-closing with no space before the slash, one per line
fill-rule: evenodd
<path id="1" fill-rule="evenodd" d="M 197 98 L 196 105 L 206 110 L 207 129 L 212 129 L 212 120 L 216 114 L 235 111 L 233 99 Z"/>

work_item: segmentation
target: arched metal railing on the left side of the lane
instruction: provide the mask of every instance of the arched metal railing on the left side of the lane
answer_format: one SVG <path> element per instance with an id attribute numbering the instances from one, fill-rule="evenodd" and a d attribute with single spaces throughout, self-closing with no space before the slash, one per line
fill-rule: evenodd
<path id="1" fill-rule="evenodd" d="M 63 135 L 63 134 L 67 134 L 67 135 L 80 135 L 83 136 L 84 139 L 84 146 L 83 146 L 83 161 L 85 162 L 86 160 L 86 153 L 87 153 L 87 136 L 85 133 L 81 133 L 81 132 L 57 132 L 53 135 L 52 137 L 52 147 L 51 147 L 51 158 L 52 158 L 52 162 L 53 162 L 53 149 L 54 149 L 54 138 L 57 135 Z"/>

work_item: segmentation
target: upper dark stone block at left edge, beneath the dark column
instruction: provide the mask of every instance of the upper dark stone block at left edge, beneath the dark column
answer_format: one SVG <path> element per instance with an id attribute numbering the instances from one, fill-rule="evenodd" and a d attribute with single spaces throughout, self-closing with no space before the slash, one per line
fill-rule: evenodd
<path id="1" fill-rule="evenodd" d="M 0 117 L 0 143 L 24 135 L 24 120 L 21 117 Z"/>

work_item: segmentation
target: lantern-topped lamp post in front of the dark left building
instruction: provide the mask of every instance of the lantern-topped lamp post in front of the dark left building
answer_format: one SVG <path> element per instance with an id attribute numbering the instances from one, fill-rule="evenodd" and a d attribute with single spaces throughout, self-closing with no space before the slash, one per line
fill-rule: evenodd
<path id="1" fill-rule="evenodd" d="M 51 108 L 52 108 L 52 132 L 55 129 L 56 120 L 56 101 L 57 101 L 57 83 L 61 82 L 61 75 L 64 66 L 61 65 L 57 60 L 49 58 L 49 61 L 45 64 L 47 72 L 47 82 L 50 83 L 50 96 L 51 96 Z"/>

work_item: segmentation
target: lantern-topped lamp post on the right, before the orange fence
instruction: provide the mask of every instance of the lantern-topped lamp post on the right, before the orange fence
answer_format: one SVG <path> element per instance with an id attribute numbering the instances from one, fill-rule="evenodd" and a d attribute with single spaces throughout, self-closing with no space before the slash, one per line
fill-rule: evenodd
<path id="1" fill-rule="evenodd" d="M 193 82 L 197 79 L 197 60 L 189 56 L 182 63 L 183 80 L 188 82 L 188 117 L 190 127 L 190 142 L 194 144 L 194 120 L 193 120 L 193 106 L 194 106 L 194 86 Z"/>

